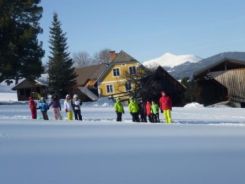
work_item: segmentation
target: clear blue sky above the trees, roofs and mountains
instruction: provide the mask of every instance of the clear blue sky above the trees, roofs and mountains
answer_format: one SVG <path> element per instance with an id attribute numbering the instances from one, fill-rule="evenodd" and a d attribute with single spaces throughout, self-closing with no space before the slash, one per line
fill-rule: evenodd
<path id="1" fill-rule="evenodd" d="M 165 52 L 205 58 L 245 51 L 244 0 L 42 0 L 41 5 L 45 62 L 54 12 L 71 54 L 109 48 L 146 61 Z"/>

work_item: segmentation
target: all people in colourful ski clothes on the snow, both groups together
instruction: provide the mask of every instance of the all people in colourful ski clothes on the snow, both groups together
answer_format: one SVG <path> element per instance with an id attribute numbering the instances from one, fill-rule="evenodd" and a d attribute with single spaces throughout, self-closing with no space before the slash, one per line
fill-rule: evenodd
<path id="1" fill-rule="evenodd" d="M 69 94 L 66 95 L 64 100 L 64 111 L 66 112 L 67 120 L 82 120 L 81 115 L 81 101 L 78 95 L 74 95 L 73 99 Z M 37 109 L 40 109 L 43 119 L 48 120 L 48 110 L 52 107 L 54 119 L 62 120 L 60 100 L 57 95 L 52 96 L 51 102 L 48 104 L 43 97 L 40 98 L 38 103 L 34 101 L 32 97 L 29 98 L 29 108 L 31 110 L 32 119 L 37 119 Z M 166 95 L 165 92 L 161 92 L 159 102 L 146 101 L 146 103 L 138 103 L 135 99 L 131 98 L 128 104 L 129 112 L 132 116 L 133 122 L 160 122 L 159 110 L 163 112 L 166 123 L 172 123 L 171 111 L 172 100 Z M 119 98 L 116 99 L 114 109 L 117 114 L 117 121 L 122 121 L 122 114 L 124 113 L 124 107 Z"/>

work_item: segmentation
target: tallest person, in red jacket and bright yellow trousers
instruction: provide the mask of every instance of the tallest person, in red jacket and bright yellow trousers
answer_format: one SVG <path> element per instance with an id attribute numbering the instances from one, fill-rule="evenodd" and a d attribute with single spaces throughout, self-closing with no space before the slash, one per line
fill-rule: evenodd
<path id="1" fill-rule="evenodd" d="M 171 98 L 164 92 L 161 92 L 161 97 L 159 99 L 160 109 L 163 111 L 163 115 L 167 124 L 172 123 L 172 100 Z"/>

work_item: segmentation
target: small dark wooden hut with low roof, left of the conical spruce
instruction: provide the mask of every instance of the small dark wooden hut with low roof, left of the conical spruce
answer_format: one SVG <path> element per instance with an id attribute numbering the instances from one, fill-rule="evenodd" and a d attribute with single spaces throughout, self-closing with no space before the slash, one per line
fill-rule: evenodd
<path id="1" fill-rule="evenodd" d="M 38 80 L 24 79 L 13 90 L 17 90 L 18 101 L 27 101 L 30 96 L 34 98 L 38 98 L 40 95 L 47 97 L 48 85 Z"/>

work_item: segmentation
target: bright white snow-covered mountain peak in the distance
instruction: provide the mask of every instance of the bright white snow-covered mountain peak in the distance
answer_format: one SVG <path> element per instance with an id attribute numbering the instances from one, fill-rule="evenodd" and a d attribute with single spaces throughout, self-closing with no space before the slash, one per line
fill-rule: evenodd
<path id="1" fill-rule="evenodd" d="M 175 55 L 172 53 L 166 53 L 159 58 L 145 61 L 143 64 L 148 68 L 156 68 L 158 66 L 174 68 L 185 63 L 197 63 L 201 60 L 202 59 L 200 57 L 195 55 Z"/>

